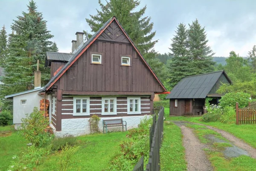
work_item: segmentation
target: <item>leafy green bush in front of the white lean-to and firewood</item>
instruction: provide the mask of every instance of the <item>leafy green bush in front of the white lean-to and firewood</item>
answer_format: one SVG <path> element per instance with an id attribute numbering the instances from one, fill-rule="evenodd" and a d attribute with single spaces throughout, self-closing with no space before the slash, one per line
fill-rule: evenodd
<path id="1" fill-rule="evenodd" d="M 53 139 L 54 135 L 46 131 L 49 120 L 44 118 L 44 111 L 34 108 L 33 112 L 30 115 L 26 114 L 26 118 L 22 118 L 21 121 L 25 139 L 36 147 L 47 145 Z"/>

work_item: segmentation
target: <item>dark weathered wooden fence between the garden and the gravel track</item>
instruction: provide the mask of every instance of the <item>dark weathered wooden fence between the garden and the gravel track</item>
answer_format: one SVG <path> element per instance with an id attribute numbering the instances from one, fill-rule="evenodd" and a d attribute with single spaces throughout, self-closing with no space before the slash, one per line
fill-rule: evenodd
<path id="1" fill-rule="evenodd" d="M 156 114 L 158 114 L 158 119 L 156 119 Z M 146 165 L 145 171 L 160 171 L 160 148 L 162 144 L 163 136 L 163 114 L 164 108 L 161 107 L 159 110 L 155 110 L 153 115 L 153 123 L 149 129 L 149 139 L 150 139 L 150 152 L 148 158 L 148 164 Z M 143 171 L 143 156 L 137 162 L 133 171 Z"/>

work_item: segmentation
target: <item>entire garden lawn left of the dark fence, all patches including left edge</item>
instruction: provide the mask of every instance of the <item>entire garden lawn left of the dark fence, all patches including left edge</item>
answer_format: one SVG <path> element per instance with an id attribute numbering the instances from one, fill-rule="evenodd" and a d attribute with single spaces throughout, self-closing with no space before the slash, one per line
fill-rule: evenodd
<path id="1" fill-rule="evenodd" d="M 11 164 L 12 157 L 20 155 L 26 148 L 26 140 L 14 131 L 13 126 L 0 127 L 0 131 L 12 131 L 10 136 L 0 137 L 0 171 L 6 171 Z M 79 151 L 74 155 L 71 170 L 102 171 L 108 169 L 109 161 L 114 153 L 119 151 L 119 143 L 125 139 L 126 132 L 113 132 L 108 134 L 90 134 L 78 137 Z M 57 170 L 56 163 L 59 152 L 52 152 L 47 156 L 37 171 Z M 70 170 L 70 171 L 71 171 Z"/>

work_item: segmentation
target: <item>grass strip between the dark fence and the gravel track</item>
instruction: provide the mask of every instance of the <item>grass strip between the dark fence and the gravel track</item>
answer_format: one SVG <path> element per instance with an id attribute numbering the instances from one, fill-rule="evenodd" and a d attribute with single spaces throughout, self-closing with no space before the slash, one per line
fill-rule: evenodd
<path id="1" fill-rule="evenodd" d="M 160 149 L 161 171 L 185 171 L 185 148 L 182 145 L 182 134 L 172 122 L 164 124 L 162 147 Z"/>

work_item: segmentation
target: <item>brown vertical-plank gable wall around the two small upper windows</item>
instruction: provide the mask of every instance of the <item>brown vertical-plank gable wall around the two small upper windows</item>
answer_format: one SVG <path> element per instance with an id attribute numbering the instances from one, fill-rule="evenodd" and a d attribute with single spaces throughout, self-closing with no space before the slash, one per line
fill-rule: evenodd
<path id="1" fill-rule="evenodd" d="M 91 54 L 101 53 L 102 64 L 91 64 Z M 121 66 L 121 56 L 131 56 L 131 66 Z M 162 92 L 131 44 L 96 41 L 55 83 L 63 91 Z"/>

